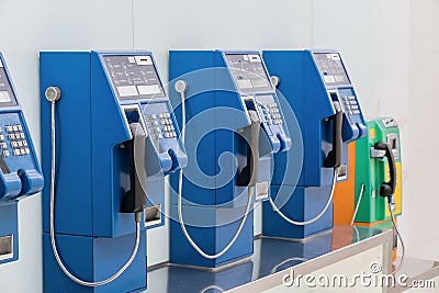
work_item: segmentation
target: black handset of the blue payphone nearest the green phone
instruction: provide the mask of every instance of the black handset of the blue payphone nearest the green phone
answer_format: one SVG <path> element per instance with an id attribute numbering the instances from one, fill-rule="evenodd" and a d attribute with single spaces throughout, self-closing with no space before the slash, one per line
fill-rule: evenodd
<path id="1" fill-rule="evenodd" d="M 324 167 L 338 168 L 342 157 L 342 109 L 338 101 L 333 101 L 336 114 L 330 116 L 333 121 L 333 149 L 325 159 Z"/>

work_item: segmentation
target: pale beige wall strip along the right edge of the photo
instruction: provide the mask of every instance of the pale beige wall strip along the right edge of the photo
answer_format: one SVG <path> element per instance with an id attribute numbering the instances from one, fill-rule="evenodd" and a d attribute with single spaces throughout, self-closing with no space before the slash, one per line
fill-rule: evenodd
<path id="1" fill-rule="evenodd" d="M 439 106 L 439 2 L 410 1 L 409 109 L 410 169 L 406 173 L 405 217 L 413 245 L 409 255 L 439 259 L 437 180 L 439 136 L 436 132 Z"/>

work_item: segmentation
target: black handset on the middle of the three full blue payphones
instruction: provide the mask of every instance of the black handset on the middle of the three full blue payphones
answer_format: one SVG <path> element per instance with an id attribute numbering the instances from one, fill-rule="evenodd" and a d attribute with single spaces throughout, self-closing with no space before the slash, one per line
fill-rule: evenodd
<path id="1" fill-rule="evenodd" d="M 260 121 L 255 110 L 249 110 L 251 124 L 245 129 L 247 143 L 247 166 L 240 171 L 236 184 L 238 187 L 254 187 L 259 176 L 259 131 Z"/>

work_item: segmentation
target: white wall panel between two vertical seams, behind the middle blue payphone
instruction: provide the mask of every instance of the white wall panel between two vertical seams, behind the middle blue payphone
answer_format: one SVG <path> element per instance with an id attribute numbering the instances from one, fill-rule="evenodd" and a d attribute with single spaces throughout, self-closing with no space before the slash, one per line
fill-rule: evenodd
<path id="1" fill-rule="evenodd" d="M 154 7 L 148 1 L 134 1 L 135 47 L 155 53 L 162 77 L 168 76 L 169 49 L 261 49 L 312 45 L 312 1 L 172 0 L 157 1 Z M 150 23 L 161 25 L 150 27 Z M 257 209 L 256 233 L 260 232 L 260 209 Z M 156 239 L 158 245 L 148 243 L 148 262 L 166 261 L 169 255 L 168 226 L 149 232 L 148 239 Z"/>

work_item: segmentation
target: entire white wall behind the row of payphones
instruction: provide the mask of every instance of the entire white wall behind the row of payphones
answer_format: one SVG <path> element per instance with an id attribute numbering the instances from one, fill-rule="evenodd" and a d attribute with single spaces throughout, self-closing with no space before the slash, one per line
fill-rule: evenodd
<path id="1" fill-rule="evenodd" d="M 435 2 L 0 0 L 0 50 L 5 55 L 34 142 L 40 148 L 38 50 L 149 49 L 166 79 L 168 49 L 337 48 L 348 64 L 367 116 L 393 115 L 402 126 L 405 171 L 402 228 L 410 251 L 428 257 L 428 252 L 424 252 L 427 249 L 415 248 L 421 244 L 427 247 L 431 240 L 436 245 L 439 243 L 437 229 L 429 228 L 432 225 L 428 224 L 429 216 L 435 213 L 434 205 L 423 198 L 438 202 L 425 182 L 435 179 L 434 167 L 428 162 L 439 138 L 434 136 L 432 140 L 426 140 L 419 132 L 409 131 L 418 125 L 435 125 L 434 84 L 439 81 L 439 75 L 434 75 L 439 74 L 439 66 L 435 66 L 439 61 L 435 56 L 439 42 L 432 40 L 435 27 L 438 27 L 435 15 L 439 12 L 439 4 Z M 412 43 L 410 34 L 414 36 Z M 410 64 L 409 56 L 413 57 Z M 420 98 L 426 99 L 418 102 Z M 409 114 L 415 114 L 418 121 L 409 120 Z M 415 156 L 419 161 L 416 165 L 412 160 Z M 42 292 L 40 201 L 41 196 L 36 195 L 20 205 L 21 258 L 15 263 L 0 266 L 0 292 Z M 150 264 L 167 260 L 167 229 L 166 226 L 148 235 Z M 429 247 L 434 253 L 434 246 Z"/>

